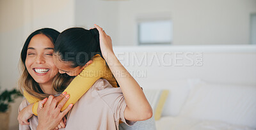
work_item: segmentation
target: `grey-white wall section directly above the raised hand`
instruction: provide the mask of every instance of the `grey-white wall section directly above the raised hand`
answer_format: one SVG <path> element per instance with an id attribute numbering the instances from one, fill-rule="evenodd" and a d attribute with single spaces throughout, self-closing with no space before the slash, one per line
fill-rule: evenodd
<path id="1" fill-rule="evenodd" d="M 113 45 L 118 41 L 118 3 L 116 1 L 76 0 L 76 26 L 90 29 L 100 25 L 111 36 Z"/>

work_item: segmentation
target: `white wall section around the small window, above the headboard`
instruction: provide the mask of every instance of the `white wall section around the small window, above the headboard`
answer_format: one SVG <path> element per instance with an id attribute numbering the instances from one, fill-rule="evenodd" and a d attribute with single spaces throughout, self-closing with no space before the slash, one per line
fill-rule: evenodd
<path id="1" fill-rule="evenodd" d="M 248 44 L 255 0 L 140 0 L 118 2 L 118 45 L 136 45 L 136 20 L 171 17 L 173 44 Z"/>

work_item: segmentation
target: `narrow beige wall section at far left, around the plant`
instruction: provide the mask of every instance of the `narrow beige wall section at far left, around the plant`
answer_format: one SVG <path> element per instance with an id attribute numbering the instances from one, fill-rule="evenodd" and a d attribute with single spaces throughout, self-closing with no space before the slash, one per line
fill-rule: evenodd
<path id="1" fill-rule="evenodd" d="M 23 1 L 0 1 L 0 87 L 17 88 L 19 78 L 18 62 L 23 37 Z M 15 8 L 10 8 L 10 7 Z M 20 99 L 12 103 L 10 127 L 17 126 Z"/>

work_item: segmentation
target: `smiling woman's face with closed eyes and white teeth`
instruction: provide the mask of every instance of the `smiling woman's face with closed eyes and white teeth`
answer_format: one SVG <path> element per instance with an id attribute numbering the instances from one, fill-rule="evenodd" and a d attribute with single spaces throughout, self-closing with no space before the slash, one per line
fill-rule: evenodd
<path id="1" fill-rule="evenodd" d="M 58 73 L 52 61 L 53 48 L 52 41 L 44 34 L 36 34 L 29 42 L 25 64 L 28 73 L 38 83 L 52 83 Z"/>

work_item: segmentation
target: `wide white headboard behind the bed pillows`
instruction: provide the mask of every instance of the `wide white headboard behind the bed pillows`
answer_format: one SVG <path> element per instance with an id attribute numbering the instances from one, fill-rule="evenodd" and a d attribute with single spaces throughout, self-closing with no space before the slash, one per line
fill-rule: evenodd
<path id="1" fill-rule="evenodd" d="M 120 46 L 113 49 L 142 87 L 187 78 L 256 85 L 256 45 Z"/>

